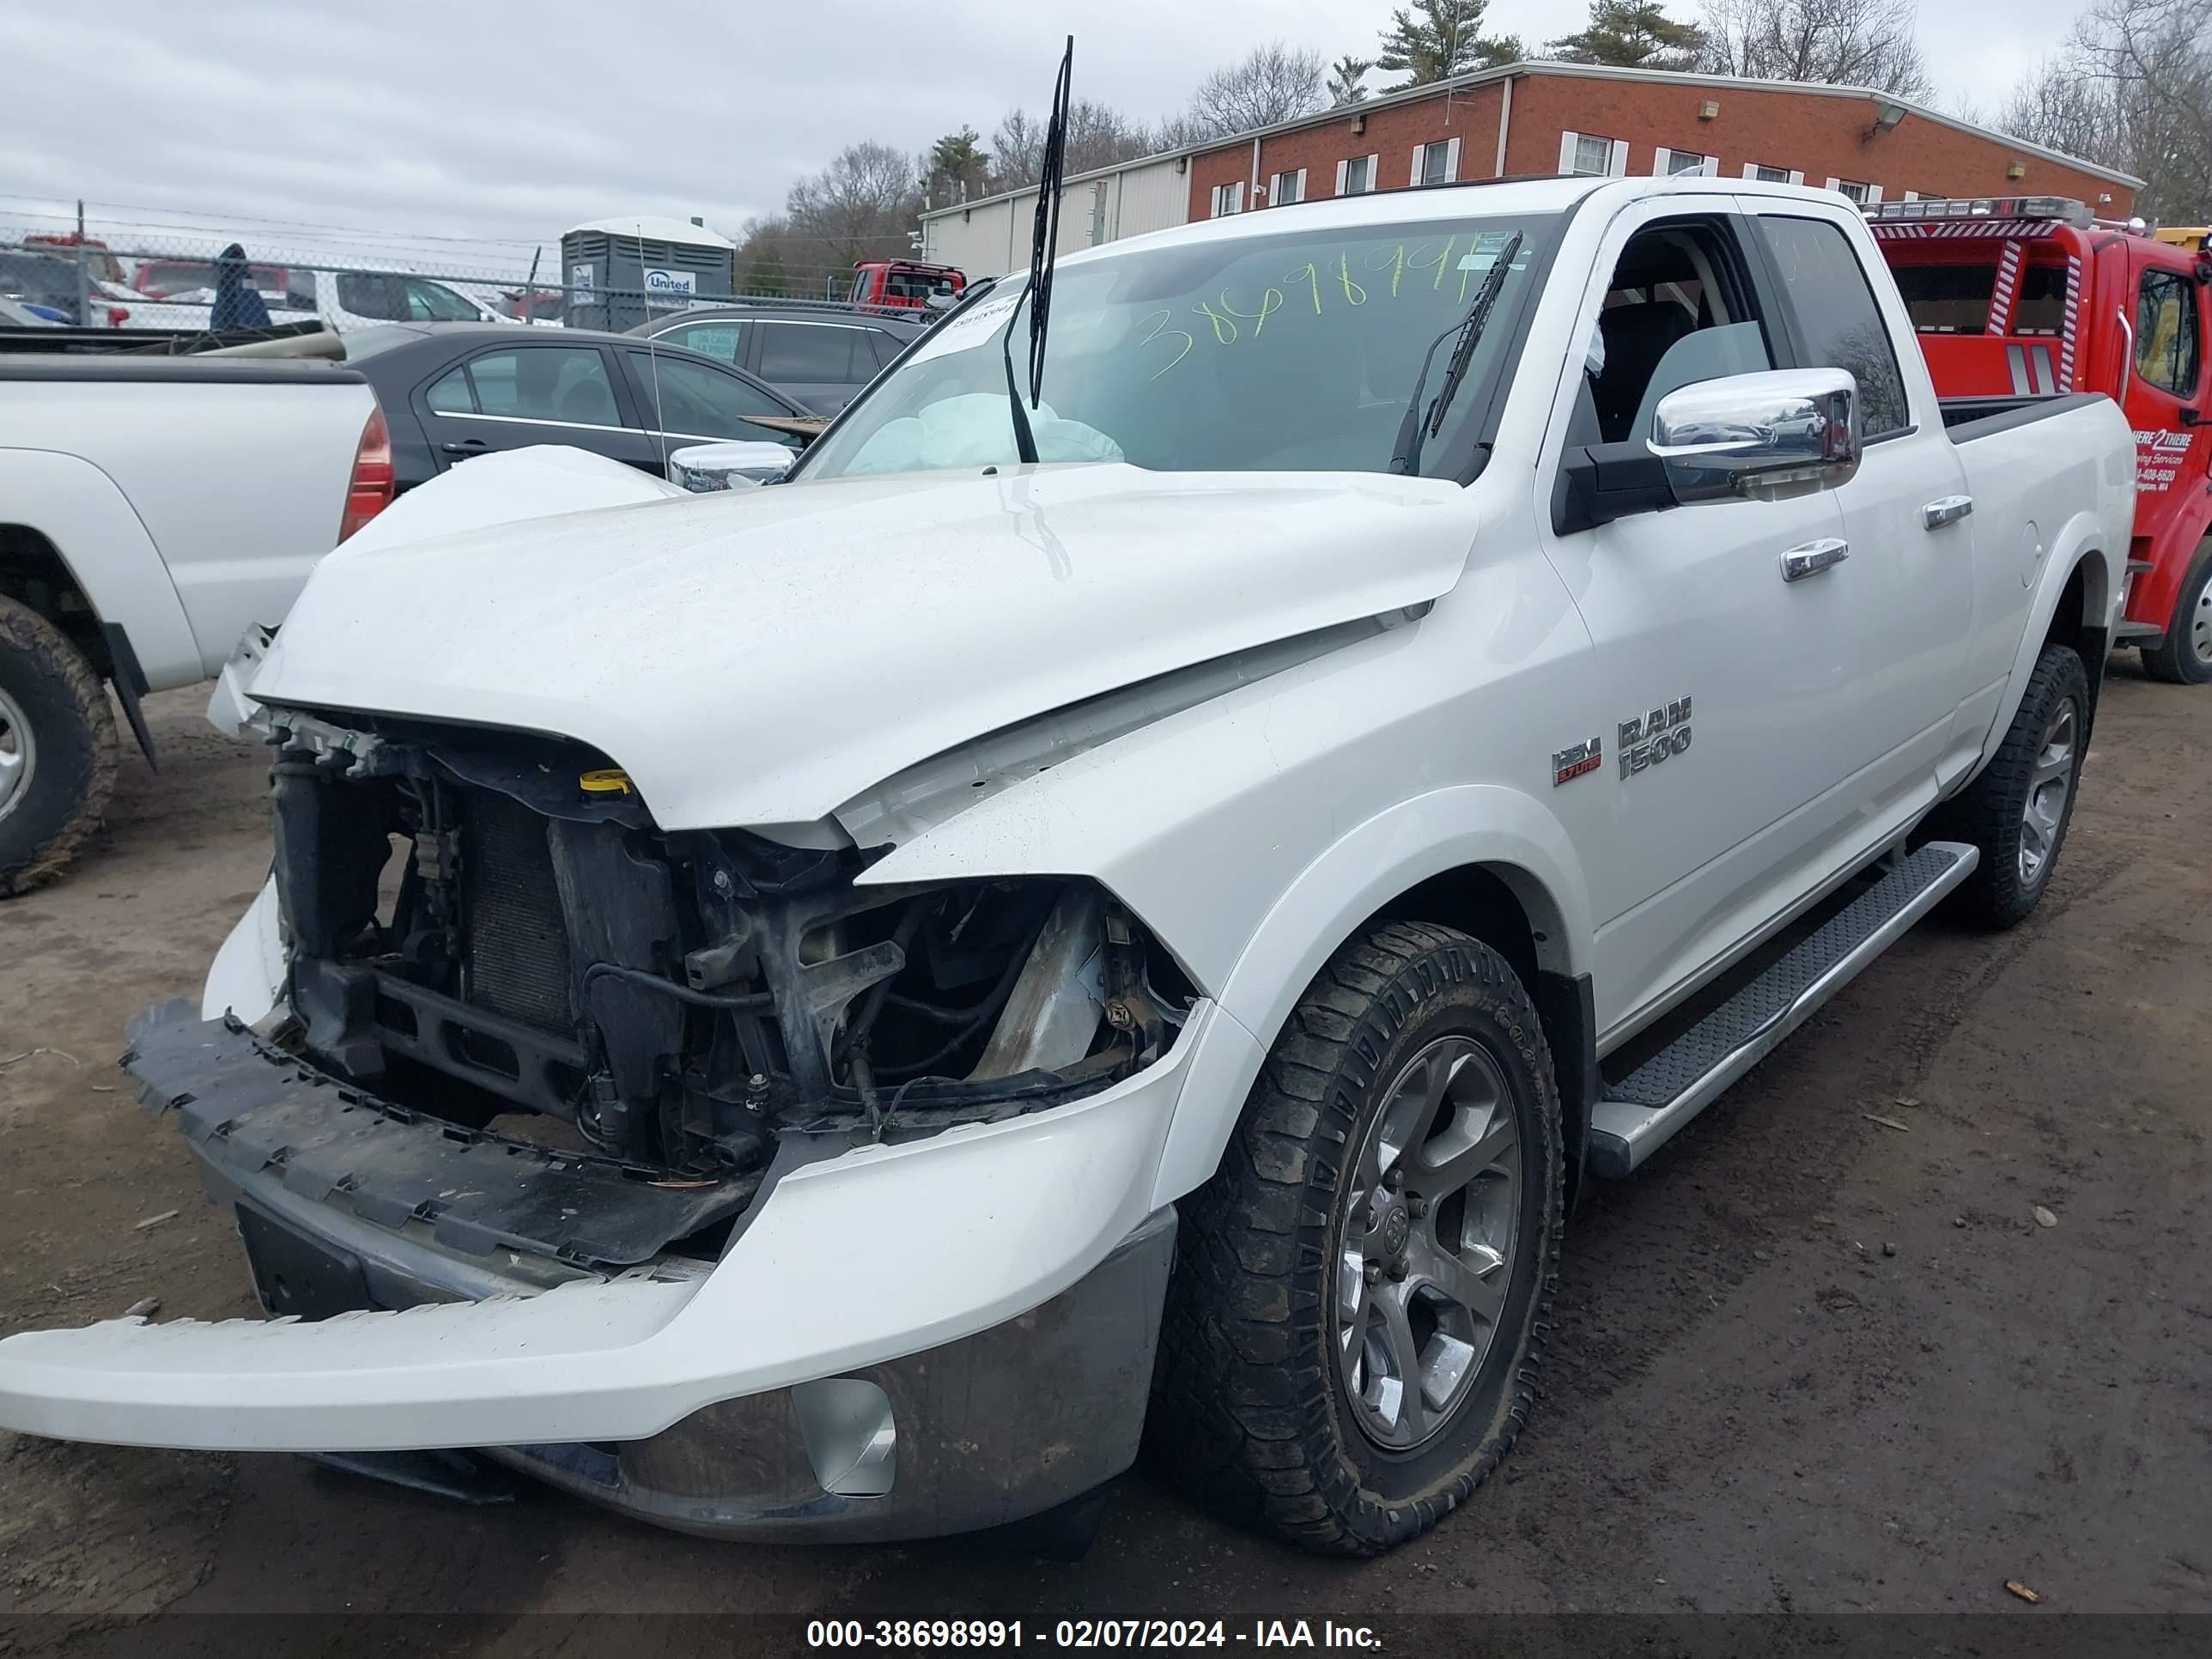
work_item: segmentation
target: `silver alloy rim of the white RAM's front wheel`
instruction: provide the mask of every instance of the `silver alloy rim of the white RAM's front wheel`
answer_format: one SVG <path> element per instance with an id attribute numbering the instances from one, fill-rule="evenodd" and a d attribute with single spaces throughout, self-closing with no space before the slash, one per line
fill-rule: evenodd
<path id="1" fill-rule="evenodd" d="M 1513 1281 L 1520 1175 L 1489 1051 L 1438 1037 L 1407 1060 L 1354 1164 L 1332 1298 L 1345 1398 L 1378 1447 L 1427 1444 L 1467 1402 Z"/>

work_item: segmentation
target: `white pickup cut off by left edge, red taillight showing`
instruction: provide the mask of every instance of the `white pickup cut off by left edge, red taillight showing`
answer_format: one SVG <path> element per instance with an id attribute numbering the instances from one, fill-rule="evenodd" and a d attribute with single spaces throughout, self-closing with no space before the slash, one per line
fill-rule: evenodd
<path id="1" fill-rule="evenodd" d="M 392 500 L 376 394 L 325 363 L 0 356 L 0 898 L 55 876 L 115 787 L 108 686 L 215 675 Z M 102 684 L 104 681 L 104 684 Z"/>

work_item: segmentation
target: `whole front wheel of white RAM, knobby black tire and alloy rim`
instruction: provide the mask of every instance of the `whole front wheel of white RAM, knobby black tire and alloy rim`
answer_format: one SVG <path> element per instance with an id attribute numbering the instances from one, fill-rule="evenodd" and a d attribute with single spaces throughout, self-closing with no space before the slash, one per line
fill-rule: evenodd
<path id="1" fill-rule="evenodd" d="M 1535 1398 L 1559 1183 L 1551 1053 L 1504 958 L 1422 922 L 1347 945 L 1181 1206 L 1164 1467 L 1332 1555 L 1433 1526 Z"/>

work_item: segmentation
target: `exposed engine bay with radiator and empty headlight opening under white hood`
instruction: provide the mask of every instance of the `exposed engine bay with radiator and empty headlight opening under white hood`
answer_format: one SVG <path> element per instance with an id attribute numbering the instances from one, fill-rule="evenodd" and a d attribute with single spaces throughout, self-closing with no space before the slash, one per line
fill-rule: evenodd
<path id="1" fill-rule="evenodd" d="M 869 849 L 661 832 L 562 739 L 268 710 L 285 1048 L 462 1130 L 741 1210 L 779 1137 L 902 1139 L 1106 1088 L 1194 991 L 1088 880 L 863 887 Z M 566 1126 L 562 1130 L 560 1126 Z"/>

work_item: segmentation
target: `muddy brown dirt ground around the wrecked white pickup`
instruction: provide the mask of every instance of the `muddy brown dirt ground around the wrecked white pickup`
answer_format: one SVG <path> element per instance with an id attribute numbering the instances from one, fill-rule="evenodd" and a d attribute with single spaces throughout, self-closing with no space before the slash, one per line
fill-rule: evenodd
<path id="1" fill-rule="evenodd" d="M 199 708 L 157 699 L 164 770 L 128 761 L 91 856 L 0 907 L 0 1060 L 40 1051 L 0 1068 L 0 1334 L 142 1296 L 252 1307 L 230 1219 L 115 1071 L 124 1018 L 197 995 L 268 867 L 263 761 Z M 1296 1555 L 1144 1471 L 1055 1566 L 710 1544 L 538 1489 L 462 1509 L 285 1455 L 0 1436 L 0 1652 L 161 1613 L 345 1615 L 325 1650 L 471 1655 L 615 1650 L 538 1617 L 575 1613 L 712 1615 L 617 1626 L 668 1655 L 743 1650 L 763 1613 L 2212 1613 L 2208 825 L 2212 692 L 2115 661 L 2042 909 L 2000 938 L 1920 927 L 1601 1186 L 1504 1478 L 1389 1559 Z M 170 1621 L 164 1646 L 215 1650 L 177 1635 L 215 1626 Z"/>

